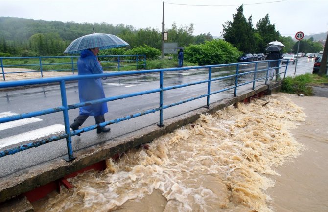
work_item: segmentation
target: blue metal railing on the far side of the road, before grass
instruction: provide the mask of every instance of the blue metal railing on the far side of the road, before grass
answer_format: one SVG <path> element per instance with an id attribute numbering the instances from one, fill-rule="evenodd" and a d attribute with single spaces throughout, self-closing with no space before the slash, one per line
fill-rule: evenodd
<path id="1" fill-rule="evenodd" d="M 80 56 L 50 56 L 50 57 L 0 57 L 2 78 L 5 74 L 31 73 L 48 71 L 77 70 L 77 60 Z M 146 55 L 103 55 L 98 56 L 104 71 L 121 71 L 123 67 L 135 67 L 136 70 L 146 68 Z M 27 68 L 29 71 L 5 71 L 5 68 Z"/>

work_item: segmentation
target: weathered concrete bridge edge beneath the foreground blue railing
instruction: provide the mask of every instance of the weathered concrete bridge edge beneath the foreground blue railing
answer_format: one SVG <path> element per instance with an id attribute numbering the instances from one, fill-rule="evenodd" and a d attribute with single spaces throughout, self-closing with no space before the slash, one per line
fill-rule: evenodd
<path id="1" fill-rule="evenodd" d="M 49 182 L 61 179 L 87 166 L 113 157 L 117 153 L 123 153 L 131 148 L 138 148 L 140 145 L 149 143 L 161 135 L 196 121 L 200 117 L 200 114 L 213 114 L 218 110 L 249 99 L 259 93 L 264 92 L 266 95 L 278 93 L 280 88 L 281 81 L 272 82 L 268 85 L 261 85 L 258 86 L 256 90 L 214 102 L 210 105 L 209 109 L 205 107 L 198 108 L 181 116 L 164 120 L 164 127 L 160 128 L 156 125 L 151 125 L 137 132 L 128 133 L 104 141 L 101 144 L 75 151 L 74 156 L 76 159 L 71 162 L 66 162 L 62 158 L 57 158 L 32 168 L 19 171 L 15 174 L 5 176 L 0 179 L 0 203 L 33 190 L 34 188 L 46 185 Z"/>

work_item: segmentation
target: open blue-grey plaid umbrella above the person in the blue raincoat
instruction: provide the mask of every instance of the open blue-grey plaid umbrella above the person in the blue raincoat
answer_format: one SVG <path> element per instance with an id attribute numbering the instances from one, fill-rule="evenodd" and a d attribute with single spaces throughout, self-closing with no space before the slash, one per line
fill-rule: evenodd
<path id="1" fill-rule="evenodd" d="M 88 48 L 99 47 L 99 49 L 101 50 L 108 48 L 124 47 L 128 45 L 128 43 L 126 43 L 115 35 L 93 33 L 79 37 L 72 41 L 72 43 L 70 43 L 64 53 L 75 54 Z"/>

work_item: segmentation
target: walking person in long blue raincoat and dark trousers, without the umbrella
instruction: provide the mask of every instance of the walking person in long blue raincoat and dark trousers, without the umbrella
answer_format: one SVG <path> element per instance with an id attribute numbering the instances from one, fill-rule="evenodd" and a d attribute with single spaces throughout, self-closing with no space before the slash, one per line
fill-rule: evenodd
<path id="1" fill-rule="evenodd" d="M 78 75 L 101 74 L 103 73 L 100 62 L 96 55 L 99 48 L 86 49 L 81 52 L 81 56 L 77 61 Z M 105 93 L 100 78 L 80 79 L 78 81 L 78 90 L 80 102 L 86 102 L 96 99 L 105 98 Z M 72 130 L 77 130 L 89 116 L 94 116 L 96 124 L 105 122 L 104 114 L 108 112 L 107 102 L 86 105 L 80 107 L 79 116 L 74 119 L 74 123 L 70 125 Z M 98 127 L 97 133 L 109 132 L 109 127 Z M 80 136 L 80 134 L 78 134 Z"/>

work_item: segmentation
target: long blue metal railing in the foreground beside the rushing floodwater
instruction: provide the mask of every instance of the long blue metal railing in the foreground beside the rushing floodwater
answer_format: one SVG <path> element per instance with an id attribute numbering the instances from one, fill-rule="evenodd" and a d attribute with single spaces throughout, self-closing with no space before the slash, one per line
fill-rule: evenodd
<path id="1" fill-rule="evenodd" d="M 276 60 L 279 61 L 279 60 Z M 259 66 L 259 64 L 261 66 Z M 46 83 L 54 83 L 57 82 L 60 84 L 60 91 L 61 91 L 61 100 L 62 100 L 62 106 L 60 107 L 56 107 L 56 108 L 48 108 L 48 109 L 44 109 L 44 110 L 39 110 L 39 111 L 34 111 L 34 112 L 29 112 L 29 113 L 23 113 L 23 114 L 18 114 L 18 115 L 13 115 L 13 116 L 8 116 L 8 117 L 3 117 L 0 118 L 0 123 L 5 123 L 5 122 L 9 122 L 9 121 L 14 121 L 14 120 L 20 120 L 23 118 L 31 118 L 31 117 L 36 117 L 36 116 L 41 116 L 41 115 L 46 115 L 46 114 L 51 114 L 51 113 L 57 113 L 57 112 L 63 112 L 63 118 L 64 118 L 64 125 L 65 125 L 65 133 L 58 135 L 58 136 L 52 136 L 50 138 L 47 139 L 43 139 L 43 140 L 39 140 L 39 141 L 35 141 L 35 142 L 29 142 L 27 144 L 23 144 L 20 145 L 18 147 L 15 148 L 11 148 L 11 149 L 7 149 L 4 151 L 0 151 L 0 157 L 4 157 L 6 155 L 11 155 L 11 154 L 15 154 L 17 152 L 32 148 L 32 147 L 37 147 L 40 146 L 42 144 L 46 144 L 48 142 L 52 142 L 52 141 L 57 141 L 57 140 L 61 140 L 61 139 L 66 139 L 67 142 L 67 148 L 68 148 L 68 157 L 66 157 L 65 159 L 67 161 L 73 160 L 74 156 L 73 156 L 73 150 L 72 150 L 72 146 L 71 146 L 71 137 L 75 136 L 79 133 L 84 133 L 87 131 L 91 131 L 96 129 L 97 127 L 105 127 L 106 125 L 110 125 L 110 124 L 114 124 L 114 123 L 118 123 L 120 121 L 124 121 L 124 120 L 128 120 L 131 118 L 136 118 L 139 116 L 143 116 L 149 113 L 154 113 L 159 111 L 159 126 L 163 126 L 163 111 L 164 109 L 176 106 L 176 105 L 180 105 L 189 101 L 193 101 L 196 99 L 200 99 L 203 97 L 207 97 L 206 100 L 206 107 L 209 108 L 210 106 L 210 96 L 213 94 L 218 94 L 230 89 L 234 89 L 234 96 L 237 95 L 237 88 L 247 85 L 247 84 L 253 84 L 252 85 L 252 90 L 255 90 L 255 82 L 261 81 L 263 82 L 263 84 L 267 84 L 268 82 L 268 78 L 269 76 L 269 68 L 268 65 L 268 61 L 258 61 L 258 62 L 247 62 L 247 63 L 233 63 L 233 64 L 220 64 L 220 65 L 209 65 L 209 66 L 195 66 L 195 67 L 183 67 L 183 68 L 170 68 L 170 69 L 154 69 L 154 70 L 146 70 L 146 71 L 125 71 L 125 72 L 114 72 L 114 73 L 104 73 L 104 74 L 94 74 L 94 75 L 81 75 L 81 76 L 64 76 L 64 77 L 54 77 L 54 78 L 43 78 L 43 79 L 32 79 L 32 80 L 21 80 L 21 81 L 10 81 L 10 82 L 1 82 L 0 83 L 0 88 L 9 88 L 9 87 L 16 87 L 16 86 L 25 86 L 25 85 L 36 85 L 36 84 L 46 84 Z M 251 65 L 251 70 L 250 71 L 243 71 L 240 69 L 240 66 L 244 66 L 244 65 Z M 254 65 L 254 69 L 253 69 L 253 65 Z M 220 68 L 220 67 L 233 67 L 235 66 L 235 73 L 231 74 L 231 75 L 227 75 L 227 76 L 221 76 L 221 77 L 217 77 L 217 78 L 212 78 L 212 69 L 213 68 Z M 281 66 L 285 67 L 285 70 L 283 72 L 279 72 L 278 75 L 283 74 L 283 78 L 286 76 L 286 71 L 287 71 L 287 66 L 288 63 L 286 64 L 286 66 Z M 278 67 L 276 67 L 278 68 Z M 175 86 L 167 86 L 164 87 L 164 81 L 163 81 L 163 76 L 164 73 L 166 72 L 170 72 L 170 71 L 188 71 L 188 70 L 195 70 L 195 69 L 205 69 L 208 70 L 208 79 L 206 80 L 200 80 L 200 81 L 194 81 L 191 83 L 185 83 L 185 84 L 179 84 L 179 85 L 175 85 Z M 93 78 L 102 78 L 102 77 L 119 77 L 119 76 L 131 76 L 131 75 L 137 75 L 137 74 L 149 74 L 149 73 L 158 73 L 159 74 L 159 87 L 157 89 L 153 89 L 153 90 L 146 90 L 146 91 L 141 91 L 141 92 L 135 92 L 135 93 L 130 93 L 130 94 L 124 94 L 124 95 L 116 95 L 116 96 L 111 96 L 111 97 L 106 97 L 106 98 L 102 98 L 102 99 L 97 99 L 97 100 L 93 100 L 93 101 L 87 101 L 87 102 L 79 102 L 79 103 L 75 103 L 75 104 L 71 104 L 68 105 L 67 104 L 67 96 L 66 96 L 66 82 L 68 81 L 75 81 L 75 80 L 79 80 L 79 79 L 93 79 Z M 259 74 L 261 73 L 261 74 Z M 253 74 L 252 75 L 252 80 L 243 82 L 243 83 L 239 83 L 239 79 L 241 76 L 243 75 L 247 75 L 247 74 Z M 262 75 L 259 77 L 259 75 Z M 218 81 L 218 80 L 223 80 L 223 79 L 228 79 L 228 78 L 232 78 L 232 80 L 234 81 L 234 85 L 217 90 L 217 91 L 211 91 L 211 82 L 214 81 Z M 192 85 L 197 85 L 197 84 L 202 84 L 202 83 L 207 83 L 208 84 L 208 89 L 207 89 L 207 93 L 206 94 L 202 94 L 199 96 L 194 96 L 192 98 L 187 98 L 187 99 L 181 99 L 178 102 L 175 103 L 171 103 L 171 104 L 167 104 L 164 105 L 164 101 L 163 101 L 163 92 L 164 91 L 168 91 L 168 90 L 172 90 L 172 89 L 179 89 L 179 88 L 183 88 L 183 87 L 187 87 L 187 86 L 192 86 Z M 69 114 L 68 111 L 71 109 L 75 109 L 75 108 L 79 108 L 85 105 L 94 105 L 94 104 L 99 104 L 99 103 L 103 103 L 103 102 L 109 102 L 109 101 L 115 101 L 118 99 L 125 99 L 125 98 L 130 98 L 130 97 L 134 97 L 134 96 L 140 96 L 140 95 L 146 95 L 146 94 L 153 94 L 153 93 L 159 93 L 159 107 L 157 108 L 151 108 L 148 110 L 144 110 L 144 111 L 140 111 L 138 113 L 132 114 L 132 115 L 126 115 L 124 117 L 121 118 L 116 118 L 116 119 L 112 119 L 109 121 L 105 121 L 103 123 L 100 124 L 96 124 L 96 125 L 91 125 L 88 127 L 84 127 L 84 128 L 80 128 L 78 130 L 75 131 L 70 131 L 70 121 L 69 121 Z"/>

